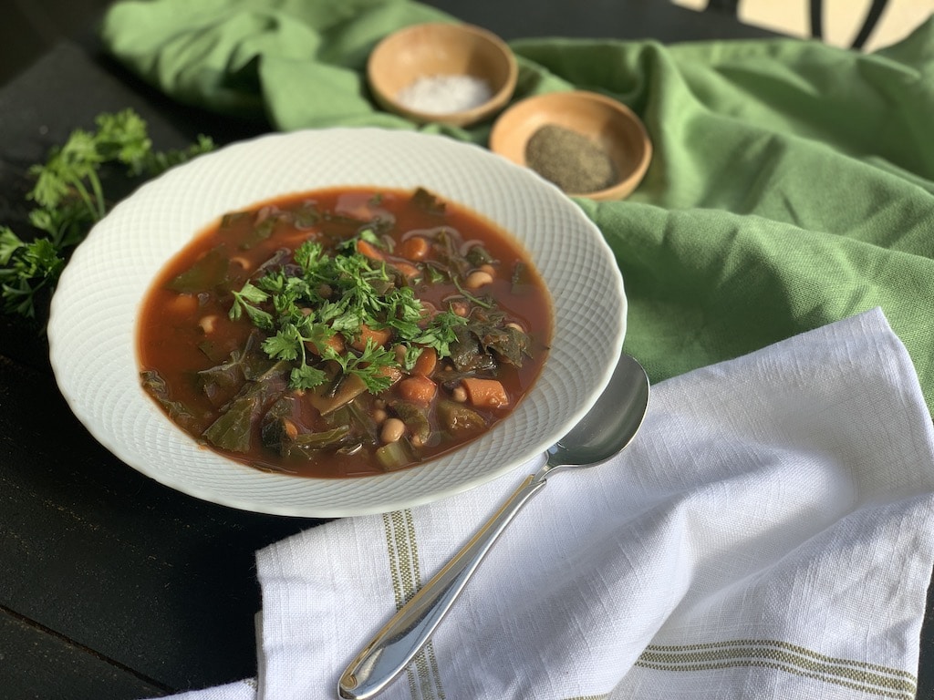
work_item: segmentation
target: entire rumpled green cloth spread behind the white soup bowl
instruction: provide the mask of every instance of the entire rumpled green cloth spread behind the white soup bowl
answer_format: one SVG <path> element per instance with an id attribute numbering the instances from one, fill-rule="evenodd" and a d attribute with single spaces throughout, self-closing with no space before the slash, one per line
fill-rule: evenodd
<path id="1" fill-rule="evenodd" d="M 293 130 L 416 125 L 368 99 L 368 51 L 446 18 L 407 0 L 153 0 L 106 45 L 179 101 Z M 874 54 L 795 39 L 514 41 L 515 99 L 600 91 L 655 155 L 625 202 L 578 200 L 616 253 L 626 349 L 653 381 L 881 306 L 934 407 L 934 21 Z M 489 124 L 422 127 L 486 143 Z"/>

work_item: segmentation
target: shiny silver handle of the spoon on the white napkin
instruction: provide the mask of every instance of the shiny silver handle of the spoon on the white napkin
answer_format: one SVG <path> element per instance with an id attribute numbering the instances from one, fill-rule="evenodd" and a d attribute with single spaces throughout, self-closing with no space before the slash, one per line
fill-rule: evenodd
<path id="1" fill-rule="evenodd" d="M 373 697 L 409 665 L 432 637 L 506 525 L 544 485 L 545 479 L 540 474 L 531 474 L 519 484 L 460 552 L 363 647 L 338 681 L 339 697 L 347 700 Z"/>

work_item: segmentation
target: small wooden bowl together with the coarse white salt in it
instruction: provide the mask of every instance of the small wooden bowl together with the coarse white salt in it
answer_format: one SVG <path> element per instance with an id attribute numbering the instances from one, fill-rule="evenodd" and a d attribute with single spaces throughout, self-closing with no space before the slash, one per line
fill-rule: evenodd
<path id="1" fill-rule="evenodd" d="M 470 24 L 416 24 L 384 38 L 367 79 L 378 105 L 406 119 L 469 126 L 509 102 L 518 67 L 502 39 Z"/>

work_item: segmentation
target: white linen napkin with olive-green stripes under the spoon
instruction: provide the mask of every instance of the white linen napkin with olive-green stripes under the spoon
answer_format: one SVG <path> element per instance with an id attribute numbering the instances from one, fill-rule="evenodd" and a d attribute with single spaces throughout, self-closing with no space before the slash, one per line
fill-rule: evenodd
<path id="1" fill-rule="evenodd" d="M 258 697 L 335 697 L 524 473 L 258 553 Z M 877 309 L 657 385 L 630 448 L 550 480 L 382 696 L 911 700 L 932 563 L 934 428 Z"/>

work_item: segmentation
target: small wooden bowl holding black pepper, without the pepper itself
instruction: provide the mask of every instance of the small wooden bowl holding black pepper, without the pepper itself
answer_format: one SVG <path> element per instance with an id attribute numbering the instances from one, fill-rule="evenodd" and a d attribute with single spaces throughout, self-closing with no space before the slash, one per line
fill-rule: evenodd
<path id="1" fill-rule="evenodd" d="M 616 170 L 616 181 L 604 189 L 567 192 L 594 200 L 628 197 L 652 160 L 652 142 L 642 121 L 626 105 L 596 92 L 549 92 L 518 102 L 502 113 L 489 134 L 489 147 L 519 165 L 526 161 L 532 135 L 545 125 L 583 134 L 601 147 Z"/>

